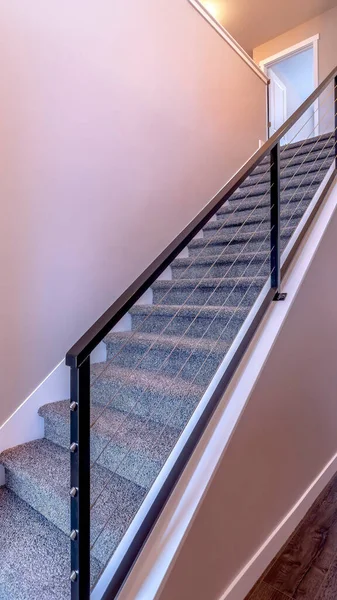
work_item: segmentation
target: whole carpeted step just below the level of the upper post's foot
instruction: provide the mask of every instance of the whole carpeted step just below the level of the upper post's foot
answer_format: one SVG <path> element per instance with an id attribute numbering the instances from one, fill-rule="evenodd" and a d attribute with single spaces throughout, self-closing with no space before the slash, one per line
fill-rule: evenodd
<path id="1" fill-rule="evenodd" d="M 224 331 L 224 339 L 231 342 L 243 324 L 248 308 L 235 306 L 134 306 L 130 311 L 132 329 L 146 333 L 188 335 L 214 338 Z"/>

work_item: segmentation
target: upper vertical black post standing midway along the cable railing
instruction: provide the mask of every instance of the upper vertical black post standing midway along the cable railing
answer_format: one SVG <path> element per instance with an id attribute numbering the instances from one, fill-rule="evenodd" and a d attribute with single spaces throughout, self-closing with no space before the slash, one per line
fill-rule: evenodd
<path id="1" fill-rule="evenodd" d="M 270 151 L 270 268 L 271 287 L 275 290 L 275 299 L 281 285 L 280 237 L 281 237 L 281 188 L 280 188 L 280 143 Z"/>

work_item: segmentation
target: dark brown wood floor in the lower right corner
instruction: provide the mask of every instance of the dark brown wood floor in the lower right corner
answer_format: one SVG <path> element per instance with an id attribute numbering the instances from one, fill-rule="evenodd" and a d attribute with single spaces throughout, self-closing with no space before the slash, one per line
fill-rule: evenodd
<path id="1" fill-rule="evenodd" d="M 246 600 L 337 600 L 337 475 Z"/>

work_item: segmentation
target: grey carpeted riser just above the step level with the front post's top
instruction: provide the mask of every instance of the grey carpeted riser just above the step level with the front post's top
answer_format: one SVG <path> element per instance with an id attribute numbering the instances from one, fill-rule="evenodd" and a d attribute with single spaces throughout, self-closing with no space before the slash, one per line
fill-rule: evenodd
<path id="1" fill-rule="evenodd" d="M 114 349 L 108 344 L 108 358 L 114 353 Z M 203 351 L 198 347 L 196 342 L 195 348 L 186 351 L 182 349 L 173 349 L 172 351 L 161 348 L 152 348 L 146 352 L 146 348 L 142 345 L 132 344 L 127 352 L 122 352 L 114 359 L 116 366 L 125 366 L 132 368 L 139 364 L 139 368 L 151 372 L 159 372 L 163 375 L 179 377 L 187 382 L 194 382 L 197 385 L 208 385 L 212 375 L 214 375 L 218 365 L 220 364 L 225 353 L 211 353 Z M 205 363 L 206 361 L 206 363 Z M 164 364 L 165 363 L 165 364 Z M 199 372 L 200 370 L 200 372 Z M 196 377 L 196 374 L 197 377 Z M 195 379 L 196 377 L 196 379 Z M 99 385 L 97 382 L 93 387 Z M 167 394 L 167 390 L 163 390 L 163 394 Z M 96 391 L 93 391 L 93 399 L 98 400 Z M 109 391 L 111 395 L 111 392 Z M 173 426 L 173 423 L 172 423 Z"/>

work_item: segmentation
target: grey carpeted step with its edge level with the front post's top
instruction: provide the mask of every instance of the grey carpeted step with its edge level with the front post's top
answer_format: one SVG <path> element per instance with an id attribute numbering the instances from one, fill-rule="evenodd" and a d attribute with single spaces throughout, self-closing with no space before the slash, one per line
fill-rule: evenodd
<path id="1" fill-rule="evenodd" d="M 112 338 L 112 335 L 111 335 Z M 153 337 L 151 338 L 153 339 Z M 109 344 L 109 342 L 108 342 Z M 110 352 L 114 344 L 110 347 Z M 143 349 L 144 346 L 141 345 Z M 141 358 L 141 352 L 135 355 Z M 136 360 L 136 358 L 135 358 Z M 161 371 L 120 367 L 115 362 L 91 366 L 91 397 L 94 404 L 150 418 L 151 421 L 181 429 L 203 395 L 205 386 L 190 384 L 181 377 Z M 102 368 L 103 367 L 103 368 Z"/>

